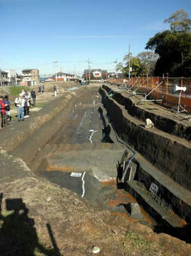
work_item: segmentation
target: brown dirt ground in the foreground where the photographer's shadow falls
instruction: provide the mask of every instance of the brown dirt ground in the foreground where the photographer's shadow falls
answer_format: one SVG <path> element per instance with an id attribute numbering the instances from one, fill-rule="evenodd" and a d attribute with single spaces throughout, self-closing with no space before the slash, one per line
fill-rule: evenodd
<path id="1" fill-rule="evenodd" d="M 51 91 L 46 96 L 54 99 Z M 19 129 L 17 121 L 13 125 Z M 1 141 L 7 131 L 1 132 Z M 190 244 L 154 233 L 124 214 L 95 208 L 75 192 L 36 176 L 22 159 L 3 150 L 0 154 L 0 255 L 85 256 L 93 255 L 93 246 L 107 256 L 190 255 Z"/>

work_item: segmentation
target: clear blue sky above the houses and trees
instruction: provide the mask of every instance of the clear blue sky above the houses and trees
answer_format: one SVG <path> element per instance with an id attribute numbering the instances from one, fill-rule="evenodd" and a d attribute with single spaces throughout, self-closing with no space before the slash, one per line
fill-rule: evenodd
<path id="1" fill-rule="evenodd" d="M 90 59 L 91 68 L 112 71 L 128 45 L 134 56 L 144 51 L 179 9 L 191 18 L 190 0 L 0 0 L 0 68 L 80 74 Z"/>

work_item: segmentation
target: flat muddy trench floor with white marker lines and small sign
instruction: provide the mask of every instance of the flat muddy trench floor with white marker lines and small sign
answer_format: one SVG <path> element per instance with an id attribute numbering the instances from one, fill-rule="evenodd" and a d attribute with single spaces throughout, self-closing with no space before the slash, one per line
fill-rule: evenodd
<path id="1" fill-rule="evenodd" d="M 116 165 L 125 147 L 116 140 L 98 90 L 77 101 L 67 119 L 36 154 L 33 162 L 40 165 L 35 173 L 76 192 L 94 207 L 152 227 L 155 221 L 136 200 L 117 189 Z"/>

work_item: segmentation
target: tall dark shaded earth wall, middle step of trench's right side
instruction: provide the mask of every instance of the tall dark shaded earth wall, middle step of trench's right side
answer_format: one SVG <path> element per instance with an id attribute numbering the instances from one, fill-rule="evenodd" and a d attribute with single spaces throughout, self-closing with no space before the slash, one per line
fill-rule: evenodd
<path id="1" fill-rule="evenodd" d="M 130 120 L 130 116 L 127 117 L 127 111 L 120 104 L 107 97 L 104 89 L 100 89 L 100 92 L 104 108 L 120 138 L 133 146 L 163 173 L 191 190 L 191 149 L 136 124 L 133 119 Z"/>

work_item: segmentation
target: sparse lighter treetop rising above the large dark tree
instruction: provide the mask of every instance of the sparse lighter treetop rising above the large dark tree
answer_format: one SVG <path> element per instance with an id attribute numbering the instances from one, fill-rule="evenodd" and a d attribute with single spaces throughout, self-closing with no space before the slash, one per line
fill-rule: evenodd
<path id="1" fill-rule="evenodd" d="M 184 10 L 178 10 L 174 12 L 171 17 L 164 20 L 164 23 L 169 23 L 171 31 L 191 31 L 191 20 L 187 12 Z"/>

